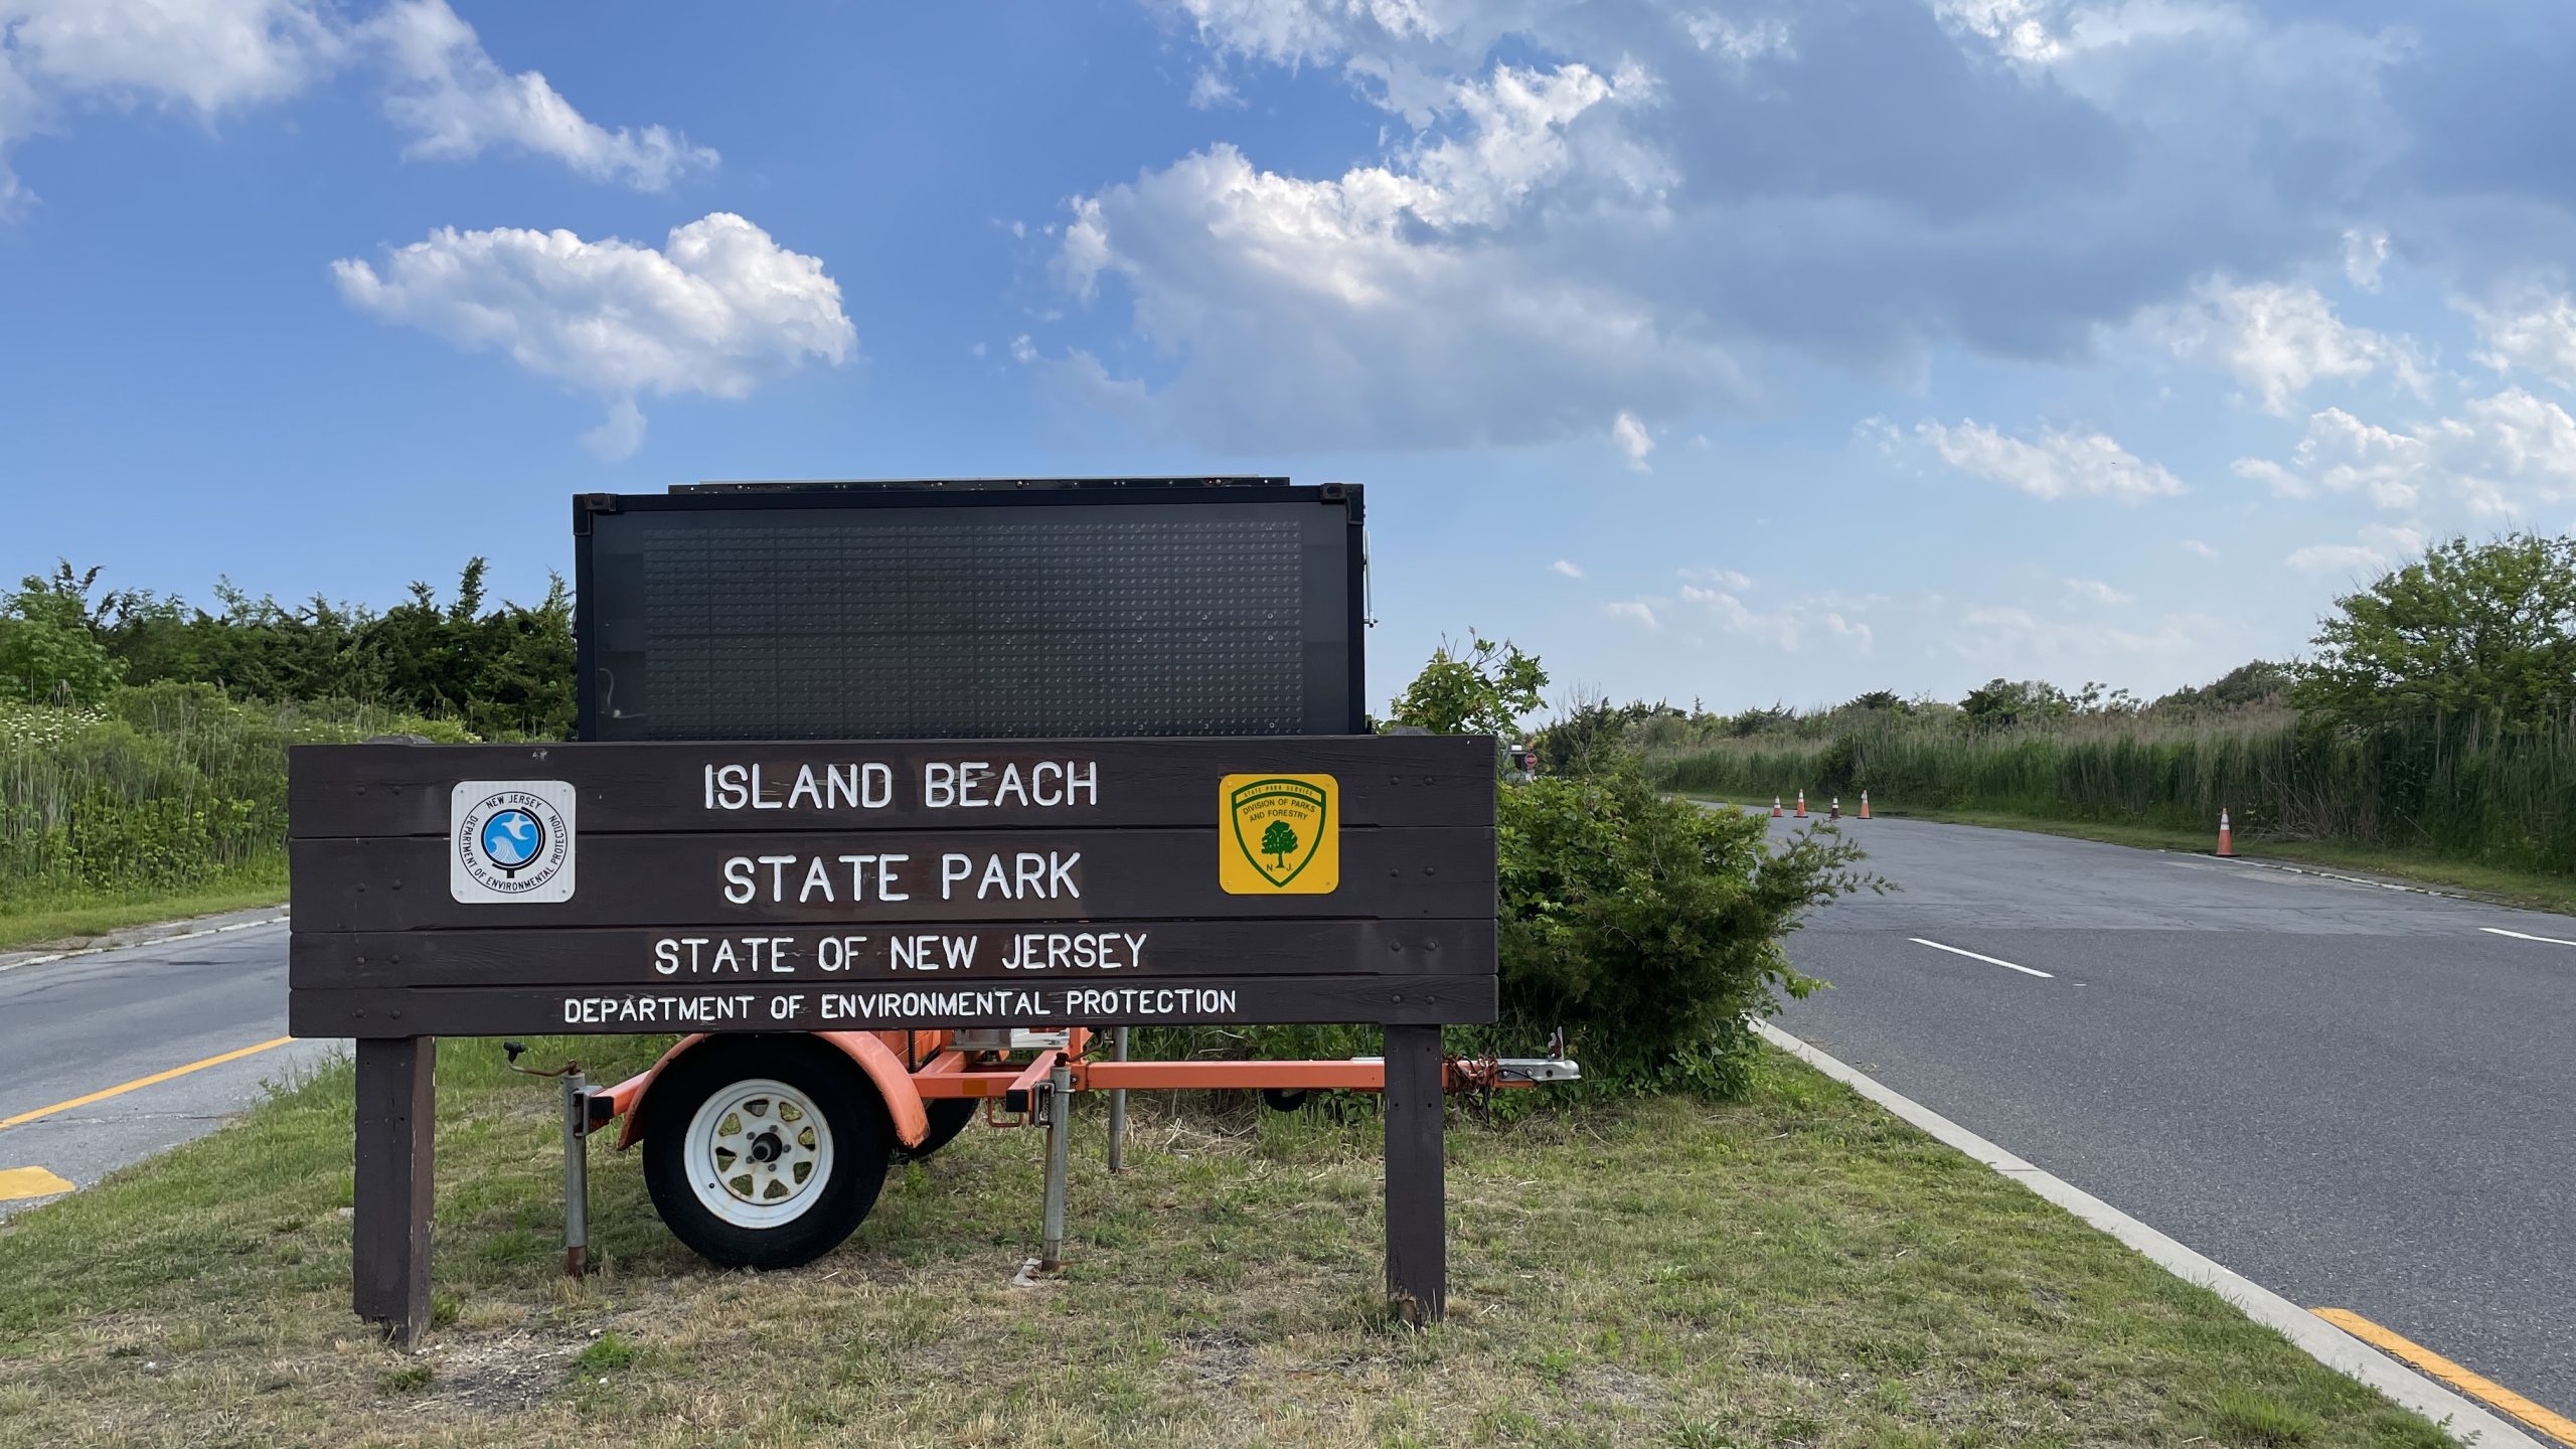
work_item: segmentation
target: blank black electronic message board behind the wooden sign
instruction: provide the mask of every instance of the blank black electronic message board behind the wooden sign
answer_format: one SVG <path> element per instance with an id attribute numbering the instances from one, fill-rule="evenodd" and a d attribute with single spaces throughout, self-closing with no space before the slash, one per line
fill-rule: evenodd
<path id="1" fill-rule="evenodd" d="M 582 737 L 1360 727 L 1358 490 L 587 500 Z"/>

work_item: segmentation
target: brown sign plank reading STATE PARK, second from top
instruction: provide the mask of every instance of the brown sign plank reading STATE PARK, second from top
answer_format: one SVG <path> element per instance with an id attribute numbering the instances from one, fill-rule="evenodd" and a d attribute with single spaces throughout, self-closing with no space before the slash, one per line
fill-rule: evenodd
<path id="1" fill-rule="evenodd" d="M 1213 792 L 1208 797 L 1213 815 Z M 1218 887 L 1213 825 L 853 835 L 590 835 L 569 900 L 461 902 L 433 835 L 291 841 L 294 923 L 312 931 L 456 926 L 933 923 L 1494 913 L 1494 833 L 1345 830 L 1329 895 Z"/>

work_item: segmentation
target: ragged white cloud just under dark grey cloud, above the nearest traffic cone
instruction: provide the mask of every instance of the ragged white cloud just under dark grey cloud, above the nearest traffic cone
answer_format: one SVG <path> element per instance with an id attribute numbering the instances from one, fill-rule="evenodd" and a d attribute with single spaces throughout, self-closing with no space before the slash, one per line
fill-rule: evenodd
<path id="1" fill-rule="evenodd" d="M 2347 325 L 2313 286 L 2205 281 L 2192 304 L 2164 309 L 2151 325 L 2174 353 L 2226 366 L 2275 418 L 2287 418 L 2316 382 L 2352 382 L 2383 366 L 2398 384 L 2424 387 L 2409 343 Z"/>

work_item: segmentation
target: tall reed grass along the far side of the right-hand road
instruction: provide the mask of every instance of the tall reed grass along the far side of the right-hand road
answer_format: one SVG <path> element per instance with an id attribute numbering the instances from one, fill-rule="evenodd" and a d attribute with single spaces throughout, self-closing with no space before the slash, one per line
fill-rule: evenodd
<path id="1" fill-rule="evenodd" d="M 2478 719 L 2365 732 L 2287 712 L 2166 724 L 2076 719 L 1973 732 L 1891 717 L 1826 740 L 1754 735 L 1656 758 L 1669 789 L 1855 794 L 1878 804 L 2128 820 L 2349 841 L 2488 866 L 2576 874 L 2576 724 L 2499 735 Z"/>

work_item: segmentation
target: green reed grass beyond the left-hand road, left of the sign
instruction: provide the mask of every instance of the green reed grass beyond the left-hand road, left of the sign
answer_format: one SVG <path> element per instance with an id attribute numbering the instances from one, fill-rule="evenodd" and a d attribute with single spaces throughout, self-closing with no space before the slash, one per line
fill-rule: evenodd
<path id="1" fill-rule="evenodd" d="M 464 740 L 363 704 L 118 688 L 95 709 L 0 704 L 0 913 L 286 874 L 286 748 Z"/>

